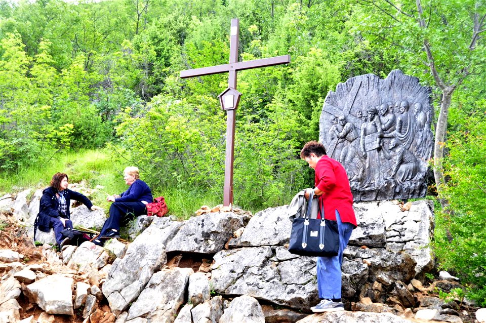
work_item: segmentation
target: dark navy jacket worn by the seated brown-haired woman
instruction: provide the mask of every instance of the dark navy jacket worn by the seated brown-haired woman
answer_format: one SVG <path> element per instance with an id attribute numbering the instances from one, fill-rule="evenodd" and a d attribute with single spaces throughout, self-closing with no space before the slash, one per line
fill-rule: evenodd
<path id="1" fill-rule="evenodd" d="M 37 215 L 37 226 L 39 230 L 44 232 L 49 232 L 49 222 L 50 218 L 59 218 L 59 201 L 56 197 L 57 190 L 53 187 L 49 186 L 42 192 L 41 197 L 41 206 L 39 207 L 39 214 Z M 66 216 L 68 219 L 71 218 L 71 214 L 69 213 L 69 206 L 71 199 L 79 201 L 86 205 L 88 209 L 91 209 L 93 203 L 91 203 L 90 199 L 85 195 L 72 191 L 70 189 L 66 189 L 66 193 L 64 194 L 64 198 L 66 199 Z"/>

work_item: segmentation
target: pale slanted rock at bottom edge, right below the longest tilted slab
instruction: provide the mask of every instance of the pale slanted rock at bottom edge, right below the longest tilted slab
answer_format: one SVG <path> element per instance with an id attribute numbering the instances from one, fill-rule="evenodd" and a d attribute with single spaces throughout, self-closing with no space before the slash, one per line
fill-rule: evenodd
<path id="1" fill-rule="evenodd" d="M 190 268 L 163 269 L 152 275 L 128 312 L 128 320 L 171 321 L 184 300 Z"/>

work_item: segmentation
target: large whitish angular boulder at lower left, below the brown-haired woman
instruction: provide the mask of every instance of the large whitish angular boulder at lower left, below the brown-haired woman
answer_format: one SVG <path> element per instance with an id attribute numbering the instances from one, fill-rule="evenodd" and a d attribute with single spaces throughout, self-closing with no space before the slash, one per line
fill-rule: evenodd
<path id="1" fill-rule="evenodd" d="M 73 315 L 73 279 L 54 274 L 26 286 L 33 301 L 49 314 Z"/>

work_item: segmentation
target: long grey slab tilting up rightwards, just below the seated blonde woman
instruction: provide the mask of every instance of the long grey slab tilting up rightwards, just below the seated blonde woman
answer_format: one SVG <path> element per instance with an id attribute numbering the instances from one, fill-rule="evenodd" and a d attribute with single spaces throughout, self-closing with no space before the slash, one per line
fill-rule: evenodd
<path id="1" fill-rule="evenodd" d="M 142 292 L 155 271 L 167 263 L 163 230 L 149 227 L 130 246 L 123 259 L 117 258 L 102 292 L 108 299 L 111 311 L 118 315 Z"/>

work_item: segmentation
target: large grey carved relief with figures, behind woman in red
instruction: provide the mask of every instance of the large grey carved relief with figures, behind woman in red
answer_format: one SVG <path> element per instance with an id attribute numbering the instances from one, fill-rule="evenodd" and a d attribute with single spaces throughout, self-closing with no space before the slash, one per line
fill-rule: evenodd
<path id="1" fill-rule="evenodd" d="M 346 169 L 355 201 L 424 197 L 432 154 L 431 90 L 393 70 L 360 75 L 330 91 L 319 141 Z"/>

